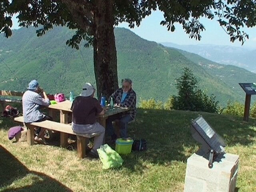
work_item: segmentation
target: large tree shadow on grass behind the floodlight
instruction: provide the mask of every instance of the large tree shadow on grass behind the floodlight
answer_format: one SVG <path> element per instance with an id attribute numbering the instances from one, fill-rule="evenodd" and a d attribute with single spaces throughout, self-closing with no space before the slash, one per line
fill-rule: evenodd
<path id="1" fill-rule="evenodd" d="M 145 138 L 148 150 L 122 156 L 124 166 L 132 171 L 143 171 L 145 161 L 162 165 L 175 164 L 176 161 L 185 163 L 200 148 L 200 143 L 192 138 L 190 132 L 190 121 L 199 114 L 229 147 L 236 144 L 247 146 L 255 141 L 255 119 L 244 122 L 240 116 L 138 109 L 135 122 L 128 126 L 128 135 L 134 139 Z"/>

